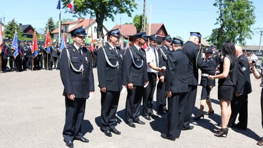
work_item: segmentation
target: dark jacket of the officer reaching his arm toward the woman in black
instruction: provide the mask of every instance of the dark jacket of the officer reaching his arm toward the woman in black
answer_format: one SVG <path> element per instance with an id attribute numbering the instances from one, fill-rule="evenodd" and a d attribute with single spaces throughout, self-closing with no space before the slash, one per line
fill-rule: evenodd
<path id="1" fill-rule="evenodd" d="M 199 53 L 199 46 L 195 45 L 192 41 L 187 41 L 184 43 L 183 51 L 188 56 L 189 65 L 187 72 L 188 85 L 198 85 L 198 69 L 200 68 L 203 73 L 215 74 L 215 69 L 206 64 L 206 62 L 201 58 L 201 53 Z"/>

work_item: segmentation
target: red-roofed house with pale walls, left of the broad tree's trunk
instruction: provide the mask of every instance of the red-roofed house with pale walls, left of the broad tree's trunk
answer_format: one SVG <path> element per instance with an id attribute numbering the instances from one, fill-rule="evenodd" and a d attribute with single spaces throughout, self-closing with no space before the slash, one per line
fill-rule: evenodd
<path id="1" fill-rule="evenodd" d="M 74 21 L 68 21 L 65 23 L 61 24 L 61 38 L 62 38 L 62 33 L 64 33 L 65 40 L 68 42 L 69 38 L 71 38 L 70 32 L 74 30 L 75 28 L 83 26 L 83 28 L 87 32 L 87 38 L 91 38 L 91 35 L 93 35 L 93 39 L 98 38 L 97 37 L 97 23 L 95 19 L 85 19 L 85 18 L 78 18 L 77 20 Z M 54 35 L 53 39 L 58 40 L 58 32 L 59 28 L 56 28 L 52 34 Z M 103 34 L 107 34 L 108 29 L 103 26 Z M 104 37 L 104 40 L 107 40 L 107 37 Z"/>

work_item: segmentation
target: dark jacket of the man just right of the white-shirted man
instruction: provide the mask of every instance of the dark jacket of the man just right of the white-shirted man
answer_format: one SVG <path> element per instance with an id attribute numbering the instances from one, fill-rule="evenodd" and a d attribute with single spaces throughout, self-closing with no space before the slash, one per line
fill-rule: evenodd
<path id="1" fill-rule="evenodd" d="M 161 50 L 163 51 L 163 53 L 166 57 L 161 53 Z M 166 49 L 166 47 L 163 45 L 161 48 L 158 48 L 157 52 L 158 52 L 158 56 L 159 56 L 159 67 L 166 66 L 166 63 L 167 63 L 166 58 L 167 58 L 167 55 L 170 53 L 169 49 Z M 158 76 L 160 77 L 162 75 L 164 75 L 164 77 L 165 77 L 165 74 L 162 73 L 161 71 L 159 71 Z"/>

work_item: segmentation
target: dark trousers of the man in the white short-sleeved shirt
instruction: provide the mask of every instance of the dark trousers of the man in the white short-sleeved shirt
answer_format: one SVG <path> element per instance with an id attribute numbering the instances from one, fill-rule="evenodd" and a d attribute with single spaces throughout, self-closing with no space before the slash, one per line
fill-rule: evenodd
<path id="1" fill-rule="evenodd" d="M 149 84 L 145 88 L 145 93 L 143 97 L 143 115 L 149 116 L 152 114 L 152 105 L 153 105 L 153 94 L 156 87 L 156 73 L 148 73 Z"/>

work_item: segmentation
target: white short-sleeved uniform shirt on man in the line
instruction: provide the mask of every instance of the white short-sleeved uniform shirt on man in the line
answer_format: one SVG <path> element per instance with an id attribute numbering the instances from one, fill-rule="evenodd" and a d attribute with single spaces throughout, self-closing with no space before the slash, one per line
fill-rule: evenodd
<path id="1" fill-rule="evenodd" d="M 148 48 L 150 48 L 150 50 L 148 50 Z M 158 67 L 158 65 L 156 65 L 156 61 L 155 61 L 154 48 L 152 48 L 150 46 L 148 48 L 146 49 L 147 72 L 158 73 L 158 71 L 151 69 L 149 66 L 149 63 L 152 63 L 152 65 Z M 155 50 L 155 53 L 156 53 L 156 57 L 157 57 L 157 63 L 159 64 L 159 59 L 158 59 L 159 57 L 158 57 L 157 50 Z"/>

